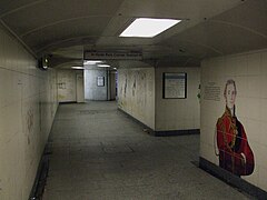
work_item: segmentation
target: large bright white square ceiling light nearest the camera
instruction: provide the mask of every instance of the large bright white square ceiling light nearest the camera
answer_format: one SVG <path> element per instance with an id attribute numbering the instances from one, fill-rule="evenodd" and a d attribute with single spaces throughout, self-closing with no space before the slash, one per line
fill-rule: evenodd
<path id="1" fill-rule="evenodd" d="M 137 18 L 120 37 L 152 38 L 180 21 L 175 19 Z"/>

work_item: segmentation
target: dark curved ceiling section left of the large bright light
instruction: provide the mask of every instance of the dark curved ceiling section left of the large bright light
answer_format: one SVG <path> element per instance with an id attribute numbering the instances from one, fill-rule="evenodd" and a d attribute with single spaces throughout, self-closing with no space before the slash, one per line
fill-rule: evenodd
<path id="1" fill-rule="evenodd" d="M 38 1 L 1 14 L 33 51 L 75 38 L 98 38 L 121 0 Z M 95 41 L 93 41 L 95 42 Z"/>

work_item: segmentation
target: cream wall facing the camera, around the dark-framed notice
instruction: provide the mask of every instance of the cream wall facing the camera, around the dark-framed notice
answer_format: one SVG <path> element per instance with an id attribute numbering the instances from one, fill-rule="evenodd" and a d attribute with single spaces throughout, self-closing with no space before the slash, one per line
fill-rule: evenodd
<path id="1" fill-rule="evenodd" d="M 164 72 L 187 73 L 187 98 L 164 99 Z M 188 130 L 200 128 L 200 106 L 197 94 L 199 92 L 199 68 L 157 68 L 156 69 L 156 130 Z"/>

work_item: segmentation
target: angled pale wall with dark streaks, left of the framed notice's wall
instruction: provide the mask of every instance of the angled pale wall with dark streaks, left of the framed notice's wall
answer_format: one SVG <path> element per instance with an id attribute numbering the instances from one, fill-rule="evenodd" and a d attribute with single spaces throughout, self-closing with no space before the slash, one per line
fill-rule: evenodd
<path id="1" fill-rule="evenodd" d="M 155 69 L 118 70 L 118 107 L 155 130 Z"/>

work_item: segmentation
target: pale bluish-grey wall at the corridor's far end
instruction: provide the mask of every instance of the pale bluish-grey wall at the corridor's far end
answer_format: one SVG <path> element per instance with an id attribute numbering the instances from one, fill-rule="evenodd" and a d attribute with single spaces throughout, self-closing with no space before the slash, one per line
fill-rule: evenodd
<path id="1" fill-rule="evenodd" d="M 103 77 L 105 86 L 97 86 L 97 78 Z M 86 100 L 108 100 L 107 71 L 87 69 L 85 70 L 85 96 Z"/>

